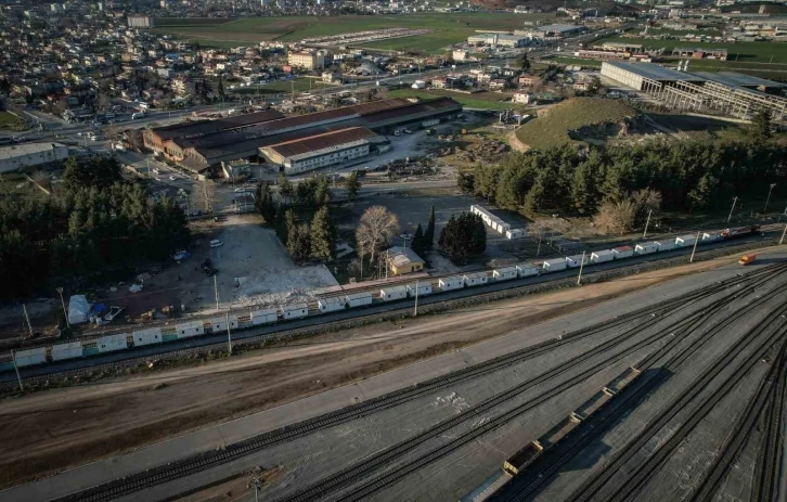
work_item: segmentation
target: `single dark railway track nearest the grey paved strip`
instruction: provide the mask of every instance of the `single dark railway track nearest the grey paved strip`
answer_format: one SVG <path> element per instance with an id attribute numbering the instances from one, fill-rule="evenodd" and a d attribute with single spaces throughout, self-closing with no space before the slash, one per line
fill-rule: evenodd
<path id="1" fill-rule="evenodd" d="M 555 347 L 580 340 L 583 337 L 592 336 L 593 334 L 610 327 L 620 326 L 622 324 L 643 318 L 646 319 L 647 323 L 657 322 L 660 319 L 659 317 L 657 317 L 658 312 L 673 312 L 682 308 L 687 308 L 688 306 L 694 305 L 694 303 L 707 299 L 710 295 L 723 292 L 726 288 L 736 287 L 749 281 L 758 281 L 769 276 L 770 274 L 783 273 L 785 271 L 787 271 L 787 263 L 764 267 L 754 272 L 750 272 L 741 276 L 736 276 L 731 280 L 704 287 L 698 292 L 692 292 L 679 298 L 663 301 L 650 308 L 631 312 L 629 314 L 609 320 L 605 323 L 601 323 L 596 326 L 591 326 L 590 329 L 568 334 L 564 336 L 560 340 L 553 339 L 543 344 L 531 346 L 522 350 L 513 352 L 511 355 L 501 356 L 490 361 L 451 373 L 449 375 L 433 378 L 413 387 L 408 387 L 405 389 L 390 392 L 379 398 L 375 398 L 359 404 L 337 410 L 332 413 L 327 413 L 314 419 L 293 424 L 291 426 L 265 433 L 254 438 L 230 445 L 221 451 L 210 451 L 203 454 L 190 456 L 167 465 L 162 465 L 142 473 L 138 473 L 127 478 L 117 479 L 115 481 L 109 481 L 104 485 L 82 490 L 56 500 L 104 501 L 130 494 L 154 485 L 177 479 L 182 476 L 195 474 L 227 462 L 232 462 L 233 460 L 237 460 L 242 456 L 255 453 L 257 451 L 261 451 L 266 448 L 270 448 L 281 442 L 291 441 L 293 439 L 306 436 L 308 434 L 312 434 L 323 428 L 339 425 L 341 423 L 356 420 L 358 417 L 366 416 L 369 414 L 392 408 L 395 406 L 421 397 L 425 394 L 435 392 L 450 385 L 455 385 L 469 378 L 476 378 L 483 374 L 500 371 L 501 369 L 507 368 L 512 364 L 519 363 L 529 358 L 544 353 L 547 350 L 552 350 Z M 634 333 L 635 331 L 638 331 L 641 329 L 641 325 L 635 325 L 628 332 Z"/>

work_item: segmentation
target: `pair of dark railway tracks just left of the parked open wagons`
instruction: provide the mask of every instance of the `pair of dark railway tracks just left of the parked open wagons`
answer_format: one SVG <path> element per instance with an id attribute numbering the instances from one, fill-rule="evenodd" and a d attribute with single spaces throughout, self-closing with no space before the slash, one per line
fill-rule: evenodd
<path id="1" fill-rule="evenodd" d="M 779 273 L 783 273 L 785 269 L 779 268 Z M 769 278 L 765 278 L 767 280 Z M 756 285 L 750 286 L 751 289 L 757 287 Z M 730 301 L 735 299 L 738 295 L 740 295 L 741 292 L 734 292 L 731 295 L 728 295 L 728 299 L 726 301 L 719 301 L 714 306 L 711 306 L 709 310 L 700 311 L 696 316 L 689 317 L 687 320 L 681 320 L 675 323 L 672 323 L 667 329 L 662 330 L 662 332 L 671 333 L 673 330 L 678 331 L 680 329 L 684 329 L 686 323 L 691 323 L 694 319 L 696 319 L 695 324 L 701 323 L 705 319 L 712 316 L 715 311 L 721 309 L 723 306 L 727 305 Z M 680 310 L 680 309 L 679 309 Z M 654 321 L 650 323 L 650 325 L 655 324 L 657 321 Z M 552 370 L 542 373 L 541 375 L 531 378 L 529 381 L 522 382 L 518 384 L 517 386 L 512 387 L 511 389 L 501 392 L 496 396 L 493 396 L 478 406 L 469 409 L 468 411 L 464 412 L 461 415 L 444 420 L 440 422 L 439 424 L 433 426 L 431 428 L 421 433 L 420 435 L 416 435 L 405 441 L 402 441 L 393 447 L 389 447 L 375 455 L 372 455 L 371 458 L 363 459 L 363 461 L 358 462 L 345 469 L 341 469 L 321 481 L 298 491 L 297 493 L 281 499 L 282 502 L 296 502 L 296 501 L 307 501 L 307 500 L 313 500 L 315 498 L 324 497 L 328 493 L 339 491 L 346 486 L 350 486 L 352 484 L 356 484 L 360 480 L 362 480 L 365 476 L 376 472 L 382 471 L 391 463 L 396 462 L 399 459 L 402 459 L 405 454 L 409 454 L 413 452 L 415 449 L 417 449 L 420 446 L 425 443 L 426 441 L 439 437 L 443 434 L 446 434 L 448 430 L 452 429 L 453 427 L 469 421 L 472 419 L 480 417 L 482 413 L 486 413 L 488 411 L 491 411 L 495 407 L 505 403 L 506 401 L 513 399 L 516 396 L 519 396 L 521 392 L 525 392 L 526 390 L 532 388 L 533 386 L 541 384 L 543 382 L 546 382 L 549 379 L 555 378 L 568 371 L 570 371 L 573 366 L 580 364 L 581 362 L 588 361 L 594 356 L 597 356 L 599 353 L 604 353 L 610 349 L 614 349 L 618 347 L 623 340 L 631 338 L 636 335 L 637 332 L 641 332 L 645 326 L 638 325 L 633 330 L 625 331 L 622 335 L 619 335 L 610 340 L 607 340 L 606 343 L 601 344 L 599 346 L 593 348 L 592 350 L 572 358 L 569 361 L 566 361 L 565 363 L 559 364 L 558 366 L 553 368 Z M 616 353 L 609 359 L 603 361 L 601 364 L 596 364 L 594 366 L 594 371 L 592 372 L 583 372 L 581 378 L 569 378 L 567 382 L 564 382 L 564 384 L 558 385 L 556 388 L 559 388 L 559 391 L 563 391 L 578 383 L 583 382 L 588 376 L 592 375 L 595 371 L 603 369 L 607 366 L 608 364 L 615 362 L 616 360 L 619 360 L 620 358 L 632 353 L 643 347 L 646 347 L 647 345 L 650 345 L 654 342 L 657 342 L 658 339 L 662 338 L 665 335 L 662 333 L 657 333 L 656 335 L 651 335 L 650 337 L 647 337 L 645 340 L 640 342 L 637 344 L 634 344 L 631 347 L 628 347 L 623 349 L 622 352 Z M 668 344 L 662 346 L 657 350 L 657 352 L 668 351 L 670 350 L 676 340 L 679 340 L 680 337 L 672 337 Z M 557 392 L 559 394 L 559 392 Z M 539 398 L 534 398 L 533 400 L 530 400 L 514 410 L 504 413 L 503 415 L 500 415 L 495 419 L 491 419 L 486 424 L 477 427 L 476 429 L 460 436 L 459 439 L 454 440 L 452 443 L 446 445 L 441 448 L 437 448 L 429 453 L 422 455 L 421 458 L 408 462 L 405 465 L 402 465 L 387 474 L 383 474 L 380 476 L 377 476 L 372 481 L 361 486 L 360 488 L 353 489 L 350 492 L 344 492 L 341 493 L 340 500 L 347 501 L 347 500 L 363 500 L 366 497 L 371 495 L 375 491 L 382 489 L 385 486 L 388 486 L 392 482 L 396 482 L 397 480 L 401 479 L 402 477 L 415 472 L 415 469 L 420 468 L 421 466 L 427 465 L 430 462 L 434 462 L 438 458 L 448 454 L 450 451 L 455 450 L 460 446 L 468 442 L 469 440 L 475 439 L 481 434 L 485 434 L 486 432 L 492 430 L 500 425 L 503 425 L 504 423 L 513 420 L 514 417 L 520 415 L 521 413 L 525 413 L 526 411 L 529 411 L 530 409 L 543 403 L 545 400 L 554 397 L 556 394 L 553 394 L 553 391 L 547 391 L 542 394 Z"/>

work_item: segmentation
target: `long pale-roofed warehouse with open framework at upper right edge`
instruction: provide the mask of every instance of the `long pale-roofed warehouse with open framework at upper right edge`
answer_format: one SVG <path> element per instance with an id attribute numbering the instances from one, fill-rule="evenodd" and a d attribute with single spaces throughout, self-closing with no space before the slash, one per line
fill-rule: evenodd
<path id="1" fill-rule="evenodd" d="M 651 63 L 605 61 L 602 75 L 654 95 L 678 110 L 717 110 L 726 115 L 750 118 L 769 110 L 783 119 L 787 85 L 733 72 L 678 72 Z"/>

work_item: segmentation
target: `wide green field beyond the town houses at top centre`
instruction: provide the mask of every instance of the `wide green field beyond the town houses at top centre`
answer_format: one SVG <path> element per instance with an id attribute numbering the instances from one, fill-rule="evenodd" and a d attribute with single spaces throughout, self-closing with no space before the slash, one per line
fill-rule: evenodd
<path id="1" fill-rule="evenodd" d="M 154 31 L 169 34 L 180 39 L 199 41 L 205 47 L 221 42 L 243 44 L 262 40 L 293 41 L 343 33 L 379 28 L 431 28 L 439 33 L 420 37 L 397 38 L 361 44 L 378 49 L 410 49 L 423 52 L 441 52 L 451 43 L 457 43 L 477 29 L 521 28 L 522 22 L 545 20 L 545 14 L 506 15 L 503 13 L 412 14 L 376 16 L 288 16 L 244 17 L 227 23 L 210 24 L 212 20 L 167 18 Z M 191 23 L 195 21 L 195 23 Z M 156 20 L 158 23 L 158 20 Z"/>

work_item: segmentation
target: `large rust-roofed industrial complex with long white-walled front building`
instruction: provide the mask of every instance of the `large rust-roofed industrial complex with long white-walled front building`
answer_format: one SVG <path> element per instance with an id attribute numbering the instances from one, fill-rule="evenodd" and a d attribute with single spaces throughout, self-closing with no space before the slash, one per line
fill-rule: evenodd
<path id="1" fill-rule="evenodd" d="M 450 98 L 392 99 L 291 117 L 258 112 L 149 129 L 143 137 L 146 147 L 197 173 L 244 158 L 260 158 L 295 173 L 384 152 L 388 142 L 378 134 L 451 119 L 461 112 Z"/>

